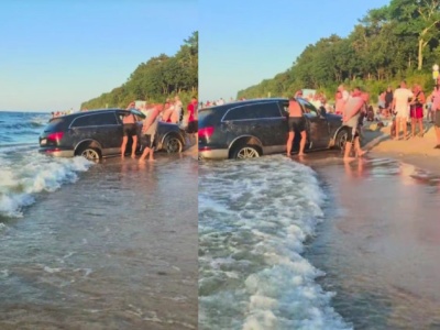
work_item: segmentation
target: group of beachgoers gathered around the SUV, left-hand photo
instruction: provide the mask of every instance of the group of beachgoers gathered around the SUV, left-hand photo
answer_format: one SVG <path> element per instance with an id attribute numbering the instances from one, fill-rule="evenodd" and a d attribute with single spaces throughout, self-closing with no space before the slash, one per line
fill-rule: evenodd
<path id="1" fill-rule="evenodd" d="M 131 146 L 131 157 L 135 158 L 135 151 L 138 143 L 142 145 L 143 152 L 139 158 L 140 163 L 144 163 L 148 157 L 150 162 L 154 161 L 154 147 L 155 147 L 155 136 L 157 133 L 157 124 L 160 121 L 175 123 L 185 129 L 189 135 L 189 141 L 191 144 L 197 143 L 197 132 L 198 132 L 198 101 L 196 97 L 191 98 L 191 101 L 187 105 L 187 122 L 184 123 L 184 109 L 183 102 L 178 96 L 175 96 L 174 101 L 167 99 L 164 105 L 154 103 L 146 105 L 142 103 L 138 108 L 135 102 L 130 102 L 127 110 L 138 110 L 141 114 L 136 116 L 133 112 L 128 112 L 123 118 L 123 140 L 121 145 L 121 157 L 125 157 L 127 144 L 129 136 L 132 138 Z M 136 123 L 142 120 L 142 131 L 138 133 Z"/>

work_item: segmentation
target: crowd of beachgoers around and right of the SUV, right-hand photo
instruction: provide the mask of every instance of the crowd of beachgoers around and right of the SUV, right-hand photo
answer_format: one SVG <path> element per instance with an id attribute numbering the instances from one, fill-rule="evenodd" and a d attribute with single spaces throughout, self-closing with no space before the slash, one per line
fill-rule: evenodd
<path id="1" fill-rule="evenodd" d="M 327 103 L 323 95 L 316 94 L 311 98 L 310 96 L 304 97 L 302 90 L 298 90 L 295 97 L 289 99 L 287 156 L 290 156 L 292 143 L 296 133 L 301 135 L 298 155 L 304 155 L 306 124 L 300 106 L 296 100 L 298 97 L 308 99 L 317 109 Z M 341 114 L 343 124 L 351 128 L 351 134 L 344 146 L 344 160 L 352 161 L 354 160 L 351 156 L 352 148 L 354 148 L 355 157 L 365 154 L 365 151 L 361 147 L 360 136 L 364 118 L 371 118 L 371 120 L 374 118 L 373 108 L 369 105 L 370 95 L 360 87 L 349 91 L 344 85 L 340 85 L 334 99 L 334 108 L 330 112 Z M 440 79 L 436 81 L 436 86 L 428 97 L 426 97 L 419 84 L 415 84 L 411 89 L 407 88 L 405 80 L 400 81 L 399 87 L 395 90 L 388 86 L 380 96 L 377 114 L 392 120 L 391 136 L 393 140 L 400 140 L 400 136 L 402 140 L 424 138 L 424 118 L 426 118 L 429 123 L 435 125 L 437 138 L 435 148 L 440 148 Z M 376 120 L 380 119 L 376 118 Z M 410 124 L 411 130 L 409 136 L 408 124 Z"/>

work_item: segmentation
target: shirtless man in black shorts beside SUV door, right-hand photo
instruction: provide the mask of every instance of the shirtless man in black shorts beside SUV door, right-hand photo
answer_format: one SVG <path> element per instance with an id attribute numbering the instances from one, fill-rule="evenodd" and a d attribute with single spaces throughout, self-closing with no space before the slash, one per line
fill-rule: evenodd
<path id="1" fill-rule="evenodd" d="M 304 148 L 306 146 L 306 119 L 302 116 L 302 109 L 298 101 L 292 97 L 288 107 L 288 139 L 287 139 L 287 156 L 290 156 L 292 146 L 295 140 L 295 133 L 301 134 L 299 142 L 298 156 L 304 156 Z"/>

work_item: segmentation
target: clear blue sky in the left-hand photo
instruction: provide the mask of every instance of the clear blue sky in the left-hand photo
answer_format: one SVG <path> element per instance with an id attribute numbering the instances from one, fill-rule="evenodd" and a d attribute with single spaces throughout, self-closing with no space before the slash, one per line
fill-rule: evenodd
<path id="1" fill-rule="evenodd" d="M 197 0 L 2 1 L 0 110 L 79 110 L 198 28 Z"/>

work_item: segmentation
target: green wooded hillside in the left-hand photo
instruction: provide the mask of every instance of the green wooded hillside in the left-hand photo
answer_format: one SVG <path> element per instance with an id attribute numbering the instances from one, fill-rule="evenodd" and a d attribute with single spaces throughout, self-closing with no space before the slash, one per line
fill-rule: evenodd
<path id="1" fill-rule="evenodd" d="M 141 63 L 128 81 L 109 92 L 81 103 L 81 109 L 125 108 L 133 100 L 163 103 L 179 95 L 189 102 L 198 92 L 198 32 L 184 40 L 174 56 L 161 54 Z"/>

